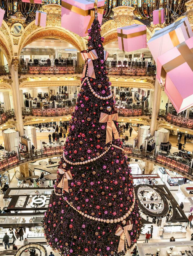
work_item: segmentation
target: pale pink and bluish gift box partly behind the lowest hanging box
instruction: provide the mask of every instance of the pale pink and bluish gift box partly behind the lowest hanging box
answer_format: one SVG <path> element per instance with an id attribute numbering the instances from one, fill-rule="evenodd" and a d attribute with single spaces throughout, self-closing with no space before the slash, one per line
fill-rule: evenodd
<path id="1" fill-rule="evenodd" d="M 185 17 L 156 31 L 148 41 L 149 50 L 157 63 L 157 57 L 193 36 L 188 18 Z"/>

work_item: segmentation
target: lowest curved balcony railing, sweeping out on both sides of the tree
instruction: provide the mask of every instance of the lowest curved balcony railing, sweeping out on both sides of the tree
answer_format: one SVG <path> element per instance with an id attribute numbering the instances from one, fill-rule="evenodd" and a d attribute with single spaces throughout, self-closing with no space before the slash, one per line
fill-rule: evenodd
<path id="1" fill-rule="evenodd" d="M 181 175 L 186 175 L 189 179 L 193 180 L 192 168 L 189 165 L 181 163 L 173 158 L 163 156 L 161 154 L 153 154 L 148 151 L 133 149 L 130 147 L 124 148 L 125 154 L 132 158 L 142 159 L 150 162 L 154 162 L 163 166 L 170 168 L 173 171 L 180 173 Z M 63 146 L 48 147 L 44 149 L 38 149 L 30 151 L 29 153 L 14 155 L 9 158 L 5 158 L 0 161 L 0 173 L 8 171 L 15 166 L 19 166 L 25 163 L 30 163 L 37 159 L 48 158 L 51 156 L 62 155 Z"/>

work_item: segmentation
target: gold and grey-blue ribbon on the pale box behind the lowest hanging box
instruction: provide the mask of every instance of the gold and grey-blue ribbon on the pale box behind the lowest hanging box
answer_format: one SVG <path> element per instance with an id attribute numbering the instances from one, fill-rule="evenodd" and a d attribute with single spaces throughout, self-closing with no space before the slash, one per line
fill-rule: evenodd
<path id="1" fill-rule="evenodd" d="M 158 36 L 158 35 L 163 35 L 163 33 L 165 33 L 165 31 L 168 31 L 168 34 L 170 36 L 170 39 L 173 43 L 173 46 L 176 47 L 178 44 L 179 44 L 179 39 L 178 39 L 178 36 L 176 34 L 176 31 L 175 31 L 175 28 L 180 25 L 181 23 L 184 23 L 184 26 L 185 26 L 185 29 L 186 29 L 186 33 L 188 35 L 188 38 L 190 38 L 190 34 L 189 34 L 189 31 L 188 31 L 188 28 L 187 28 L 187 25 L 186 25 L 186 22 L 185 20 L 182 22 L 182 20 L 178 20 L 176 21 L 175 23 L 173 23 L 173 26 L 172 28 L 168 28 L 166 30 L 164 30 L 163 32 L 159 32 L 159 33 L 155 33 L 152 38 Z"/>

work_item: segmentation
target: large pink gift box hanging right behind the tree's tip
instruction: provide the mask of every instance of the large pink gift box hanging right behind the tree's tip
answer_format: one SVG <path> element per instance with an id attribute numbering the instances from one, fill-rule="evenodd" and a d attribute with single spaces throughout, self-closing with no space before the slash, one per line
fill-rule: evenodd
<path id="1" fill-rule="evenodd" d="M 87 0 L 65 0 L 61 2 L 61 26 L 79 36 L 87 36 L 95 18 L 94 3 Z M 98 20 L 102 23 L 104 0 L 98 1 Z"/>

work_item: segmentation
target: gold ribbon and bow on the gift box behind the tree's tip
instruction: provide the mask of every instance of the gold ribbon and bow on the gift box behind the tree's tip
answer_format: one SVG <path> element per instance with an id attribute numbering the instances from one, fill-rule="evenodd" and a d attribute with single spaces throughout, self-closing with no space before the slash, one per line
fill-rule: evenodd
<path id="1" fill-rule="evenodd" d="M 76 7 L 76 6 L 73 6 L 72 4 L 68 4 L 64 1 L 62 1 L 61 3 L 61 6 L 72 11 L 72 12 L 75 12 L 77 14 L 80 14 L 82 16 L 90 16 L 90 21 L 89 21 L 89 24 L 87 26 L 87 29 L 85 31 L 85 33 L 87 33 L 87 30 L 91 27 L 92 23 L 93 23 L 93 20 L 95 19 L 95 3 L 93 5 L 93 8 L 92 9 L 89 9 L 89 10 L 83 10 L 79 7 Z M 99 14 L 103 14 L 104 12 L 104 6 L 100 6 L 100 7 L 97 7 L 97 12 Z"/>

